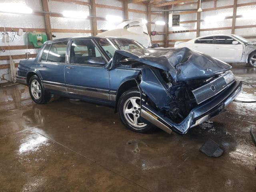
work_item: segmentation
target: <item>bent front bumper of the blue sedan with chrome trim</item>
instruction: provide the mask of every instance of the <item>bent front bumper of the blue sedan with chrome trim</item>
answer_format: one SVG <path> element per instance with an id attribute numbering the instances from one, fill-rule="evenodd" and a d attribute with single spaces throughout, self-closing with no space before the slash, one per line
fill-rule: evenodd
<path id="1" fill-rule="evenodd" d="M 142 104 L 140 116 L 169 134 L 172 131 L 178 134 L 186 134 L 190 128 L 225 112 L 224 108 L 241 91 L 242 82 L 236 80 L 226 90 L 192 109 L 188 116 L 179 124 L 173 123 L 169 118 L 154 110 L 154 108 L 144 104 Z"/>

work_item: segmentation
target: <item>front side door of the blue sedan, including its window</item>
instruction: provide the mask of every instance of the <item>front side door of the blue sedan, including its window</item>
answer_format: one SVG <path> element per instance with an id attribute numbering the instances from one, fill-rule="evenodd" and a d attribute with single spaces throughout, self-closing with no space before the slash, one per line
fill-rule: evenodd
<path id="1" fill-rule="evenodd" d="M 65 65 L 68 94 L 89 100 L 110 102 L 109 71 L 106 58 L 92 39 L 77 39 L 70 43 L 70 59 Z"/>

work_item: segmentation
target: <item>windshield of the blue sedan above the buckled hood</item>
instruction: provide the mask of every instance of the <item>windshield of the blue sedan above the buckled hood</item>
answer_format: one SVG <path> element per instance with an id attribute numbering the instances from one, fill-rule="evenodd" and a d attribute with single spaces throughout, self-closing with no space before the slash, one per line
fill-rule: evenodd
<path id="1" fill-rule="evenodd" d="M 110 58 L 114 56 L 116 50 L 145 48 L 142 44 L 129 39 L 95 38 L 94 40 L 102 46 Z"/>

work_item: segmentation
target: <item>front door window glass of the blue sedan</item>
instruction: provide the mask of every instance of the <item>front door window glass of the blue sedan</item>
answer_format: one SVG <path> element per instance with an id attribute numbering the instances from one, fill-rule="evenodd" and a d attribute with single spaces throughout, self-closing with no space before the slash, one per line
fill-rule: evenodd
<path id="1" fill-rule="evenodd" d="M 102 61 L 102 54 L 91 39 L 74 40 L 70 48 L 70 64 L 92 64 L 88 60 Z"/>

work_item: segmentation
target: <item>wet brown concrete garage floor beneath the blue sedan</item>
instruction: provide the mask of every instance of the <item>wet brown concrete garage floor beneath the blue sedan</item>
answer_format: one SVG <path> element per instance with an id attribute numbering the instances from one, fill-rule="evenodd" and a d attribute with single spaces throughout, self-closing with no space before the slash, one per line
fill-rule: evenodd
<path id="1" fill-rule="evenodd" d="M 256 85 L 255 68 L 233 72 Z M 255 95 L 244 85 L 237 99 Z M 0 192 L 255 192 L 256 104 L 228 109 L 184 136 L 138 134 L 113 108 L 67 98 L 38 105 L 23 85 L 0 88 Z M 220 158 L 199 152 L 209 138 L 224 149 Z"/>

